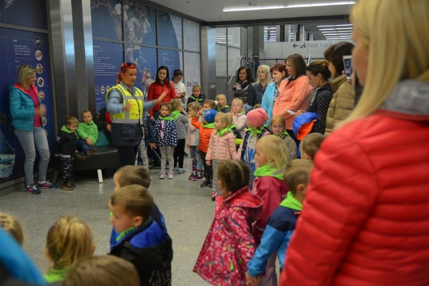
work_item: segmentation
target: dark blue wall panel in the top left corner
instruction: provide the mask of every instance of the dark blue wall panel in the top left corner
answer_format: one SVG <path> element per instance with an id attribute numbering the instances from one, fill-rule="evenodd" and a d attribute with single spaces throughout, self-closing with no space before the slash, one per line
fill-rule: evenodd
<path id="1" fill-rule="evenodd" d="M 0 23 L 46 28 L 45 0 L 0 0 Z"/>

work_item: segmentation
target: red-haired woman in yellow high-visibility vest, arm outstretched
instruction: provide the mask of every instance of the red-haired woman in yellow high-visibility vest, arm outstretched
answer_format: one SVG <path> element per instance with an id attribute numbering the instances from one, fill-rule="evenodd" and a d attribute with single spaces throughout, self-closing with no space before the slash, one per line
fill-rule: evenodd
<path id="1" fill-rule="evenodd" d="M 134 87 L 136 77 L 137 67 L 134 63 L 121 64 L 116 86 L 106 94 L 106 108 L 112 115 L 112 144 L 118 148 L 122 166 L 134 165 L 143 135 L 143 110 L 152 109 L 167 94 L 165 90 L 157 99 L 144 103 L 143 93 Z"/>

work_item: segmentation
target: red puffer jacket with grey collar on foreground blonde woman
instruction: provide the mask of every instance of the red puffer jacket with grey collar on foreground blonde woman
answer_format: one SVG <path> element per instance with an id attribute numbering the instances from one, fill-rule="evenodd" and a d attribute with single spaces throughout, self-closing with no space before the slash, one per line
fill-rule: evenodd
<path id="1" fill-rule="evenodd" d="M 326 138 L 281 285 L 429 285 L 428 106 L 405 81 Z"/>

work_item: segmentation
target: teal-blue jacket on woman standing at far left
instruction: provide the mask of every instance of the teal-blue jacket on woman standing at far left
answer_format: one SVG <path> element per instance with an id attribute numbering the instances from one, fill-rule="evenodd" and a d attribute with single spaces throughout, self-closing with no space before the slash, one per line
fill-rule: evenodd
<path id="1" fill-rule="evenodd" d="M 34 85 L 31 88 L 38 94 Z M 9 107 L 11 109 L 12 125 L 19 130 L 31 131 L 34 124 L 34 102 L 19 84 L 9 86 Z"/>

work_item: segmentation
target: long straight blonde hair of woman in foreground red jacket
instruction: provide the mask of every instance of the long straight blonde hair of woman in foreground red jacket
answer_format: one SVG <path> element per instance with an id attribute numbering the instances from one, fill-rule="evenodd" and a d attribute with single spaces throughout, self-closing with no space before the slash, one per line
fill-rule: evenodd
<path id="1" fill-rule="evenodd" d="M 373 113 L 401 80 L 429 82 L 427 11 L 427 0 L 360 0 L 354 5 L 350 21 L 369 50 L 368 69 L 362 97 L 340 125 Z"/>

